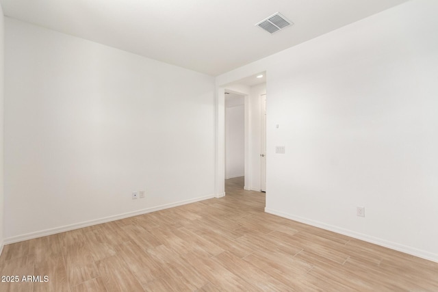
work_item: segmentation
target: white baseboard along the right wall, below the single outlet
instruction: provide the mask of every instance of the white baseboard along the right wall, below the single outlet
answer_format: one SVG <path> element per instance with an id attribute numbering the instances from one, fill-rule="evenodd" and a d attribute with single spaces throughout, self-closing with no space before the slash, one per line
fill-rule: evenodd
<path id="1" fill-rule="evenodd" d="M 418 256 L 419 258 L 424 258 L 428 261 L 434 261 L 434 262 L 438 263 L 438 254 L 433 254 L 432 252 L 426 252 L 425 250 L 419 250 L 417 248 L 412 248 L 410 246 L 402 245 L 400 243 L 395 243 L 395 242 L 387 241 L 385 239 L 381 239 L 378 237 L 372 237 L 370 235 L 357 233 L 357 232 L 352 231 L 352 230 L 348 230 L 348 229 L 340 228 L 337 226 L 325 224 L 323 222 L 295 216 L 295 215 L 285 213 L 282 211 L 276 211 L 274 209 L 265 208 L 265 212 L 273 214 L 273 215 L 278 215 L 280 217 L 285 217 L 287 219 L 298 221 L 298 222 L 301 222 L 304 224 L 309 224 L 311 226 L 319 227 L 319 228 L 322 228 L 325 230 L 333 231 L 335 233 L 339 233 L 339 234 L 346 235 L 349 237 L 354 237 L 355 239 L 360 239 L 363 241 L 374 243 L 376 245 L 381 245 L 381 246 L 384 246 L 385 248 L 390 248 L 391 250 L 397 250 L 399 252 L 404 252 L 405 254 L 411 254 L 413 256 Z"/>

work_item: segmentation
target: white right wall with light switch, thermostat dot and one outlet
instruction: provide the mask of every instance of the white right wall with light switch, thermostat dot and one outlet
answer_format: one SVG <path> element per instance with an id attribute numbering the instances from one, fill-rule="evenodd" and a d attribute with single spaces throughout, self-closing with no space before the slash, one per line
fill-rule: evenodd
<path id="1" fill-rule="evenodd" d="M 409 1 L 216 78 L 267 71 L 266 211 L 438 261 L 437 11 Z"/>

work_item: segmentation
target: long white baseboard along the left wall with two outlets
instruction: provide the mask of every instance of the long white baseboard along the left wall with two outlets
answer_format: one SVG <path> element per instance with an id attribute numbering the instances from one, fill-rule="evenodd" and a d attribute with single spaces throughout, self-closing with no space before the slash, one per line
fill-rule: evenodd
<path id="1" fill-rule="evenodd" d="M 18 236 L 14 236 L 14 237 L 8 237 L 8 238 L 4 239 L 3 244 L 16 243 L 16 242 L 19 242 L 19 241 L 25 241 L 25 240 L 34 239 L 34 238 L 38 238 L 38 237 L 43 237 L 43 236 L 47 236 L 47 235 L 54 235 L 54 234 L 57 234 L 57 233 L 64 233 L 64 232 L 70 231 L 70 230 L 75 230 L 75 229 L 79 229 L 79 228 L 83 228 L 83 227 L 88 227 L 88 226 L 92 226 L 92 225 L 96 225 L 96 224 L 102 224 L 102 223 L 106 223 L 106 222 L 120 220 L 120 219 L 127 218 L 127 217 L 133 217 L 133 216 L 137 216 L 137 215 L 142 215 L 142 214 L 146 214 L 146 213 L 151 213 L 151 212 L 155 212 L 155 211 L 169 209 L 169 208 L 172 208 L 172 207 L 178 207 L 178 206 L 181 206 L 181 205 L 184 205 L 184 204 L 190 204 L 190 203 L 193 203 L 193 202 L 199 202 L 199 201 L 202 201 L 202 200 L 208 200 L 208 199 L 215 198 L 215 197 L 216 196 L 214 196 L 214 195 L 203 196 L 203 197 L 193 198 L 193 199 L 190 199 L 190 200 L 183 200 L 183 201 L 180 201 L 180 202 L 164 204 L 164 205 L 157 206 L 157 207 L 151 207 L 151 208 L 146 208 L 146 209 L 142 209 L 142 210 L 138 210 L 138 211 L 132 211 L 132 212 L 128 212 L 128 213 L 123 213 L 123 214 L 119 214 L 119 215 L 103 217 L 103 218 L 100 218 L 100 219 L 90 220 L 90 221 L 81 222 L 81 223 L 77 223 L 77 224 L 70 224 L 70 225 L 66 225 L 66 226 L 60 226 L 60 227 L 56 227 L 56 228 L 51 228 L 51 229 L 37 231 L 37 232 L 34 232 L 34 233 L 27 233 L 25 235 L 18 235 Z M 1 248 L 3 248 L 3 244 L 1 245 Z"/>

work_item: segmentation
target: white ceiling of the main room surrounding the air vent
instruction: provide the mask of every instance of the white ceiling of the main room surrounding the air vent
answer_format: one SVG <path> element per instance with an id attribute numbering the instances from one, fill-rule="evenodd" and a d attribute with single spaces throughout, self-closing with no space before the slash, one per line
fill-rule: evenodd
<path id="1" fill-rule="evenodd" d="M 220 75 L 407 0 L 0 0 L 5 16 Z M 281 12 L 294 25 L 255 24 Z"/>

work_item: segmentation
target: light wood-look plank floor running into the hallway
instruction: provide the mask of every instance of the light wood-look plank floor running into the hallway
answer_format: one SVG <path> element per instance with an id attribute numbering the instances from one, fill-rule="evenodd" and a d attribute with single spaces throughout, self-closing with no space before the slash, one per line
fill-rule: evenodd
<path id="1" fill-rule="evenodd" d="M 263 213 L 227 196 L 6 245 L 0 291 L 438 291 L 438 263 Z"/>

